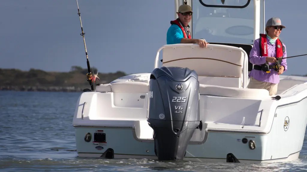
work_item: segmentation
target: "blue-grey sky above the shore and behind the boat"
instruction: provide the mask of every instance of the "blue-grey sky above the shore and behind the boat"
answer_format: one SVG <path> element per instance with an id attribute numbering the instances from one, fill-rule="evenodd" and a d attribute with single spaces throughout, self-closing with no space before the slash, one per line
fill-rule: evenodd
<path id="1" fill-rule="evenodd" d="M 68 72 L 87 68 L 76 0 L 0 0 L 0 68 Z M 174 0 L 78 0 L 91 67 L 101 73 L 151 72 L 166 44 Z M 307 1 L 266 0 L 279 17 L 288 56 L 307 54 Z M 283 75 L 306 75 L 307 56 L 287 59 Z"/>

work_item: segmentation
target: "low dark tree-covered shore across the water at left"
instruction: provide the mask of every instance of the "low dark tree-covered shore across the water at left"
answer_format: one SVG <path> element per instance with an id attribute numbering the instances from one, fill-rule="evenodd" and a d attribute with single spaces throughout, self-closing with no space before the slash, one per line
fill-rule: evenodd
<path id="1" fill-rule="evenodd" d="M 92 68 L 97 73 L 96 68 Z M 69 72 L 46 72 L 41 69 L 22 71 L 19 69 L 0 69 L 0 90 L 15 91 L 82 91 L 90 88 L 87 81 L 87 69 L 72 66 Z M 126 76 L 122 71 L 98 73 L 100 80 L 96 84 L 107 84 Z"/>

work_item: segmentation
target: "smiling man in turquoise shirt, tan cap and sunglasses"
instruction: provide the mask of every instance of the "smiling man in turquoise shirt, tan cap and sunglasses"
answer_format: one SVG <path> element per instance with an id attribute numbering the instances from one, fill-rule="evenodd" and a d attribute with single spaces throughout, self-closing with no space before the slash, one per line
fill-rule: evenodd
<path id="1" fill-rule="evenodd" d="M 189 5 L 183 4 L 179 6 L 178 18 L 170 22 L 171 26 L 166 34 L 167 44 L 197 43 L 199 47 L 207 47 L 209 43 L 205 39 L 191 39 L 188 23 L 192 19 L 192 13 L 192 8 Z"/>

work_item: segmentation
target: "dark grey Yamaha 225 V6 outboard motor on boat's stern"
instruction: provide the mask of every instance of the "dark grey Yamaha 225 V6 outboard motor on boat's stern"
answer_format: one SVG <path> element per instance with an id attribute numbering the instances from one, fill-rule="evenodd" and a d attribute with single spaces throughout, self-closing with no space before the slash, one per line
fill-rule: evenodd
<path id="1" fill-rule="evenodd" d="M 194 70 L 156 68 L 150 75 L 149 114 L 158 160 L 182 160 L 200 123 L 199 82 Z"/>

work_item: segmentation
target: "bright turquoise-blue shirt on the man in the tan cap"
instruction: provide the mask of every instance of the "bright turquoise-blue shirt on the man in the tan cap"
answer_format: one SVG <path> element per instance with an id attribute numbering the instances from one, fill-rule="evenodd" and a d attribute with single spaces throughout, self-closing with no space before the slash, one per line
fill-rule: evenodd
<path id="1" fill-rule="evenodd" d="M 180 43 L 183 37 L 181 28 L 177 24 L 172 24 L 166 33 L 166 44 Z"/>

